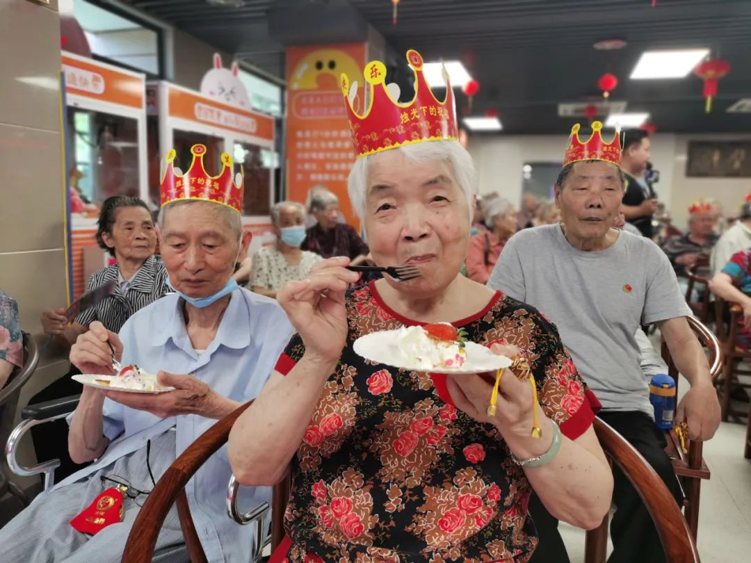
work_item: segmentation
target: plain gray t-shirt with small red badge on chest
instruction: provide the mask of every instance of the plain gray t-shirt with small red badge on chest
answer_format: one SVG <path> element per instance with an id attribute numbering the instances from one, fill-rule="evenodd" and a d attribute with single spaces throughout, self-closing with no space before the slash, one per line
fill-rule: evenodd
<path id="1" fill-rule="evenodd" d="M 556 324 L 603 408 L 653 416 L 636 330 L 691 315 L 654 242 L 621 231 L 610 248 L 584 252 L 557 224 L 525 229 L 508 240 L 487 285 Z"/>

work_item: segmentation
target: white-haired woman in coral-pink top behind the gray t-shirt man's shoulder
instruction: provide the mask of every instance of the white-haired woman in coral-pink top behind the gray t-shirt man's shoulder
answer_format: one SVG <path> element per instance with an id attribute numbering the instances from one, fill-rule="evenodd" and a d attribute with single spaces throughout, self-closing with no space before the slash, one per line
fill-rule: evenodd
<path id="1" fill-rule="evenodd" d="M 467 251 L 467 276 L 486 284 L 493 273 L 498 257 L 511 235 L 517 231 L 517 212 L 504 197 L 491 200 L 485 209 L 487 231 L 469 239 Z"/>

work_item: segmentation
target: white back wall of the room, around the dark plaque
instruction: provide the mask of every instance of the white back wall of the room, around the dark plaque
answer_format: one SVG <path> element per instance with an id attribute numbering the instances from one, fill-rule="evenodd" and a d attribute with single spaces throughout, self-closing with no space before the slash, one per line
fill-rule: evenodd
<path id="1" fill-rule="evenodd" d="M 692 201 L 714 197 L 725 213 L 737 212 L 751 192 L 751 178 L 686 178 L 689 140 L 741 140 L 751 134 L 672 134 L 652 137 L 652 162 L 659 170 L 657 195 L 670 210 L 673 223 L 685 229 Z M 530 161 L 560 162 L 566 151 L 566 135 L 474 135 L 469 153 L 478 169 L 478 194 L 497 191 L 512 203 L 521 199 L 522 166 Z"/>

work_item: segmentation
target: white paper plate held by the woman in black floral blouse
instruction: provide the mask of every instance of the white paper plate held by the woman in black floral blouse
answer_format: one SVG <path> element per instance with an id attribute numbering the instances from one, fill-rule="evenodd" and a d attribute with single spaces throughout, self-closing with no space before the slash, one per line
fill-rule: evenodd
<path id="1" fill-rule="evenodd" d="M 511 366 L 511 360 L 505 356 L 493 354 L 475 342 L 466 343 L 466 360 L 460 368 L 425 369 L 421 366 L 410 365 L 409 359 L 402 354 L 397 342 L 399 330 L 382 330 L 360 336 L 354 341 L 354 352 L 360 357 L 373 362 L 385 363 L 387 366 L 407 369 L 411 372 L 430 373 L 484 373 L 496 372 L 501 368 Z"/>

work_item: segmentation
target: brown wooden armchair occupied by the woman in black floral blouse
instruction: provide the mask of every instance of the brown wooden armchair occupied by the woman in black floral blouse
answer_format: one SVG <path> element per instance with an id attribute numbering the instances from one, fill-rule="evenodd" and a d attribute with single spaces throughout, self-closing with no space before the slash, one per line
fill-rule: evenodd
<path id="1" fill-rule="evenodd" d="M 122 554 L 122 561 L 128 563 L 149 563 L 152 560 L 156 538 L 164 517 L 174 502 L 180 517 L 182 534 L 188 546 L 191 561 L 202 563 L 207 561 L 198 535 L 195 532 L 188 503 L 183 487 L 198 471 L 198 468 L 228 439 L 230 429 L 237 417 L 248 408 L 247 403 L 237 411 L 228 415 L 204 432 L 198 440 L 185 450 L 167 468 L 158 480 L 146 503 L 135 519 L 128 543 Z M 605 454 L 611 462 L 620 467 L 626 477 L 633 483 L 638 494 L 644 500 L 652 516 L 662 545 L 671 563 L 690 563 L 699 561 L 698 553 L 686 519 L 680 513 L 674 498 L 662 483 L 659 475 L 650 467 L 647 461 L 623 439 L 614 429 L 596 419 L 595 431 L 602 444 Z M 284 538 L 284 512 L 289 496 L 288 479 L 274 486 L 272 499 L 271 546 L 272 550 Z M 587 532 L 587 563 L 604 563 L 605 550 L 608 545 L 608 522 L 605 518 L 603 525 L 596 530 Z"/>

